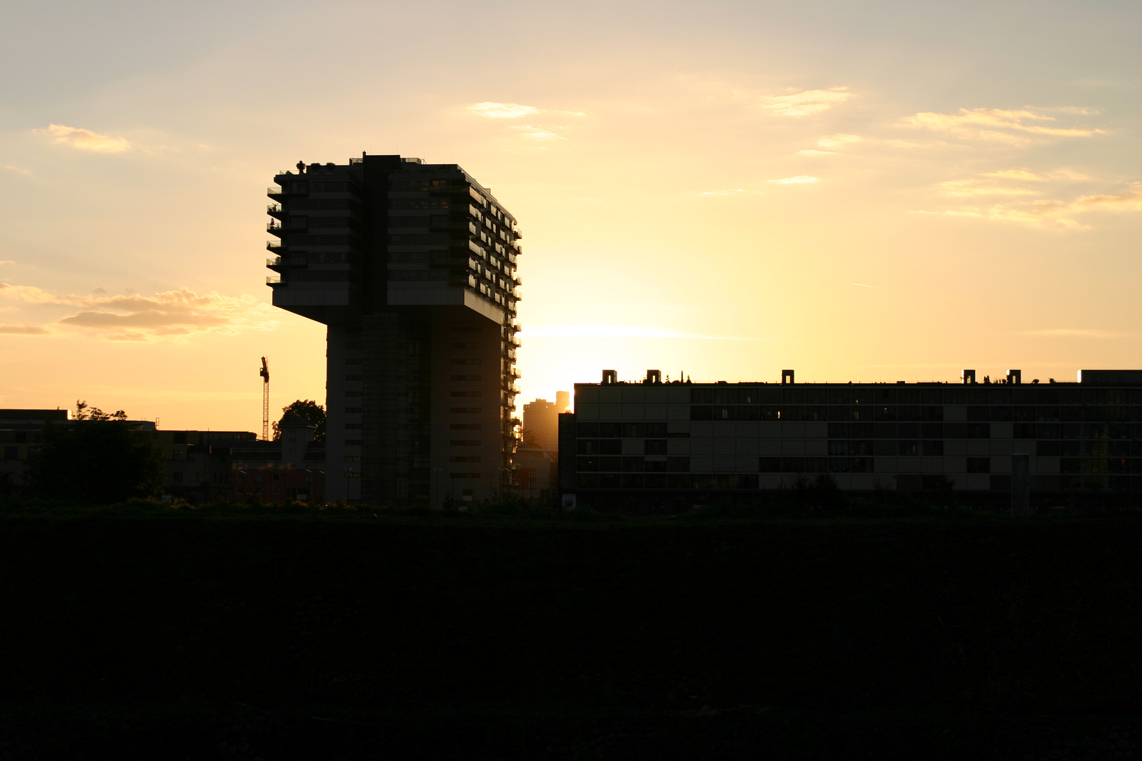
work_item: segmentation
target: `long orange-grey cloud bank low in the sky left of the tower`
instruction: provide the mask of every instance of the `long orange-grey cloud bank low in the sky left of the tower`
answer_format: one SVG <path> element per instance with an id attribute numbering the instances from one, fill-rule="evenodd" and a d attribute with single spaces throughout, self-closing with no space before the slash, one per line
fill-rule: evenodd
<path id="1" fill-rule="evenodd" d="M 273 308 L 252 296 L 199 294 L 188 289 L 154 296 L 55 294 L 32 285 L 0 283 L 0 299 L 31 305 L 79 307 L 58 319 L 58 329 L 94 331 L 108 340 L 150 341 L 196 333 L 236 334 L 242 330 L 273 330 Z M 39 332 L 39 331 L 33 331 Z M 45 329 L 42 331 L 47 333 Z"/>

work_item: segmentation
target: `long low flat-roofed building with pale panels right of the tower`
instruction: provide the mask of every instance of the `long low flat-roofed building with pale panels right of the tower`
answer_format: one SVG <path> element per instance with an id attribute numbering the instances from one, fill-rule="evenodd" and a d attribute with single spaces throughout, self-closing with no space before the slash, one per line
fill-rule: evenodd
<path id="1" fill-rule="evenodd" d="M 560 488 L 580 504 L 670 508 L 828 473 L 846 491 L 998 502 L 1022 454 L 1039 504 L 1142 502 L 1142 371 L 962 380 L 796 383 L 785 371 L 781 383 L 664 383 L 658 371 L 638 382 L 604 371 L 576 384 L 574 413 L 561 415 Z"/>

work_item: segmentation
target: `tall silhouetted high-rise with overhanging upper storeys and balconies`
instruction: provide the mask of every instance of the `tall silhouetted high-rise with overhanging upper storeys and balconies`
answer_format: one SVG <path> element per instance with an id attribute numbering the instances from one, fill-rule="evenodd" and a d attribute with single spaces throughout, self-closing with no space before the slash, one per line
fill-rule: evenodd
<path id="1" fill-rule="evenodd" d="M 328 326 L 325 499 L 478 500 L 510 484 L 515 218 L 456 164 L 298 163 L 270 188 L 274 306 Z"/>

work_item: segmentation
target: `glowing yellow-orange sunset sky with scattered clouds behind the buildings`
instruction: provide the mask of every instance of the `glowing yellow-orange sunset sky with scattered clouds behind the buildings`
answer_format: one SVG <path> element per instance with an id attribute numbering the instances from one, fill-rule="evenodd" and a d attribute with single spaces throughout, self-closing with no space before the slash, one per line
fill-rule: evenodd
<path id="1" fill-rule="evenodd" d="M 520 403 L 604 367 L 1142 367 L 1136 2 L 3 3 L 0 406 L 324 402 L 265 188 L 458 163 L 520 220 Z"/>

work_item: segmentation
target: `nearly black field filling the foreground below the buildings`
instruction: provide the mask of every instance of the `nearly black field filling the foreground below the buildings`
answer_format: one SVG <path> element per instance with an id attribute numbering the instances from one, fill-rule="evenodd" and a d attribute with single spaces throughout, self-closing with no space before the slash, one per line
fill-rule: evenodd
<path id="1" fill-rule="evenodd" d="M 0 520 L 0 759 L 1129 759 L 1142 521 Z"/>

